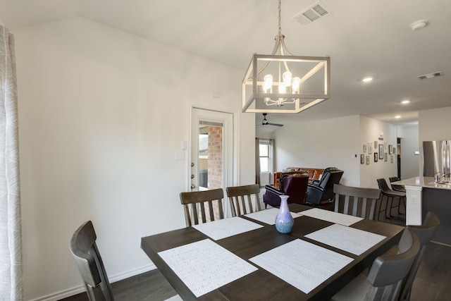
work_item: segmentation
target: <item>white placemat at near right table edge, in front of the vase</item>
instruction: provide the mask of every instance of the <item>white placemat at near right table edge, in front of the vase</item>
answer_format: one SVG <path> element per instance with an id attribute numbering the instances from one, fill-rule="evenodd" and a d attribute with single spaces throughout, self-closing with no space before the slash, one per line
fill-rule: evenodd
<path id="1" fill-rule="evenodd" d="M 297 239 L 249 260 L 308 294 L 353 259 Z"/>

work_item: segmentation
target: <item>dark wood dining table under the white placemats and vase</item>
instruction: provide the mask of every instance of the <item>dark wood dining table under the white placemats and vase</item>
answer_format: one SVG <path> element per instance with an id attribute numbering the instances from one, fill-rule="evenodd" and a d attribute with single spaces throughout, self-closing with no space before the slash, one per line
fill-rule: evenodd
<path id="1" fill-rule="evenodd" d="M 292 212 L 311 209 L 311 207 L 302 204 L 289 204 L 289 207 Z M 352 281 L 353 278 L 371 266 L 376 257 L 396 245 L 404 230 L 402 226 L 368 219 L 362 219 L 357 223 L 353 223 L 350 226 L 352 228 L 385 236 L 385 239 L 369 250 L 366 250 L 363 254 L 356 255 L 304 237 L 304 235 L 333 225 L 329 221 L 314 219 L 309 216 L 300 216 L 295 219 L 291 233 L 282 234 L 278 233 L 273 225 L 250 219 L 247 216 L 241 217 L 254 223 L 259 223 L 263 227 L 216 240 L 215 242 L 241 259 L 244 259 L 246 262 L 249 262 L 249 264 L 252 264 L 249 261 L 250 258 L 298 238 L 325 247 L 328 250 L 344 254 L 347 257 L 352 257 L 353 260 L 309 293 L 302 292 L 302 290 L 295 288 L 254 264 L 254 266 L 259 268 L 257 271 L 238 278 L 220 288 L 216 288 L 200 297 L 195 297 L 187 285 L 180 280 L 178 275 L 175 274 L 158 253 L 174 247 L 187 245 L 191 242 L 205 240 L 209 238 L 208 236 L 197 231 L 196 228 L 187 227 L 144 237 L 141 240 L 141 247 L 149 258 L 152 259 L 152 262 L 154 262 L 159 271 L 161 271 L 161 274 L 171 283 L 178 294 L 183 297 L 183 300 L 329 300 L 330 297 Z M 302 250 L 299 250 L 299 261 L 302 262 L 302 260 Z"/>

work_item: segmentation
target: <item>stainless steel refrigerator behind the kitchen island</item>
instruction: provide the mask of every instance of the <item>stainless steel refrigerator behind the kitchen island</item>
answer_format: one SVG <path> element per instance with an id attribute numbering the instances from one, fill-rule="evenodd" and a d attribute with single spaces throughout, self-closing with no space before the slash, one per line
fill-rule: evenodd
<path id="1" fill-rule="evenodd" d="M 451 173 L 451 140 L 423 142 L 423 176 L 450 178 Z"/>

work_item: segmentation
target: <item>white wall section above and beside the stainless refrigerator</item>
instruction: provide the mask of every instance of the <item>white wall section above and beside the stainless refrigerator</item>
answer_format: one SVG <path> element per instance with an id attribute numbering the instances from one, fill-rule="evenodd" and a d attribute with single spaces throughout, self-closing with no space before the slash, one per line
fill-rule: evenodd
<path id="1" fill-rule="evenodd" d="M 419 175 L 423 175 L 423 141 L 451 140 L 449 120 L 451 106 L 418 112 L 419 121 Z"/>

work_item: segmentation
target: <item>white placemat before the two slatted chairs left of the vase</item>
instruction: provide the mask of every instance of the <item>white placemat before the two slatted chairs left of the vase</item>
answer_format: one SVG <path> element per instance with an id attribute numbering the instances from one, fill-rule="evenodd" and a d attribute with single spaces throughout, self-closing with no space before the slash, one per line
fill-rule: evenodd
<path id="1" fill-rule="evenodd" d="M 196 228 L 209 238 L 214 240 L 220 240 L 222 238 L 228 238 L 229 236 L 252 231 L 263 226 L 258 223 L 253 223 L 247 219 L 242 219 L 239 216 L 232 217 L 230 219 L 218 219 L 217 221 L 211 221 L 209 223 L 199 223 L 192 228 Z"/>

